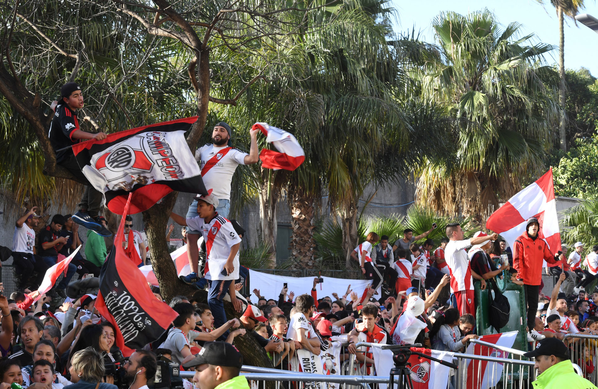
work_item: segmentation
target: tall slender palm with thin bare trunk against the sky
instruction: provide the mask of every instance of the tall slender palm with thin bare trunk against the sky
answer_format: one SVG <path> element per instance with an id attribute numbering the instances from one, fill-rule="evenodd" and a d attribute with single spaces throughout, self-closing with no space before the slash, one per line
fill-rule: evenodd
<path id="1" fill-rule="evenodd" d="M 540 4 L 544 5 L 544 0 L 536 0 Z M 565 85 L 565 16 L 575 22 L 575 15 L 580 10 L 584 9 L 584 0 L 550 0 L 550 4 L 553 5 L 557 11 L 557 18 L 559 19 L 559 104 L 563 107 L 563 112 L 560 118 L 559 135 L 560 135 L 560 149 L 563 152 L 567 151 L 567 118 L 565 116 L 565 104 L 566 104 L 566 91 L 567 86 Z M 575 24 L 577 24 L 575 22 Z"/>

